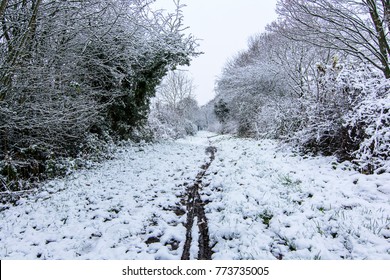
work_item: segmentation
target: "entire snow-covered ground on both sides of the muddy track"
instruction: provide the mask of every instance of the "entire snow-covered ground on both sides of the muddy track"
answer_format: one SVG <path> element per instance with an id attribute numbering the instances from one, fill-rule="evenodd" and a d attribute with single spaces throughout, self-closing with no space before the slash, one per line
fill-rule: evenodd
<path id="1" fill-rule="evenodd" d="M 206 132 L 47 182 L 0 212 L 0 258 L 180 259 L 186 187 L 210 142 L 200 192 L 213 259 L 390 259 L 390 174 Z"/>

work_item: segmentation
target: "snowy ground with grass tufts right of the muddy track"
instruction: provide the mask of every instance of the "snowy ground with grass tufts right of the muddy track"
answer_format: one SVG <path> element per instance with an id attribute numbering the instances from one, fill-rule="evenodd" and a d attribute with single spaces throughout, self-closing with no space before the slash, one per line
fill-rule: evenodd
<path id="1" fill-rule="evenodd" d="M 214 145 L 214 191 L 204 194 L 214 259 L 390 259 L 389 174 L 362 175 L 272 141 Z"/>

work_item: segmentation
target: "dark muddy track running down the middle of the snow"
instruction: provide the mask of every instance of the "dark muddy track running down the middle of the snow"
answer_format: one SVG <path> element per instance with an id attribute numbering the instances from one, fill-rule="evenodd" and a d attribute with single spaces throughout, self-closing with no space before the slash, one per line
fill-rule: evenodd
<path id="1" fill-rule="evenodd" d="M 196 175 L 195 182 L 187 188 L 187 222 L 186 222 L 186 241 L 184 243 L 182 260 L 190 259 L 190 249 L 192 244 L 192 232 L 194 221 L 197 221 L 199 232 L 199 251 L 198 260 L 211 260 L 212 249 L 210 247 L 209 227 L 204 210 L 205 203 L 200 197 L 199 191 L 202 189 L 202 180 L 206 175 L 207 169 L 215 159 L 217 148 L 209 146 L 206 148 L 206 153 L 210 155 L 210 160 L 201 166 L 201 171 Z M 196 219 L 195 219 L 196 218 Z"/>

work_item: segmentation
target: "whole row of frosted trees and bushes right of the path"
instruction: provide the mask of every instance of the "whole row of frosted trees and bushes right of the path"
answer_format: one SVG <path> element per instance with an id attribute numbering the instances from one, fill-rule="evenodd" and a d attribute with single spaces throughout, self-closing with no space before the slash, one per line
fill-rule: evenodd
<path id="1" fill-rule="evenodd" d="M 390 1 L 279 0 L 277 13 L 217 81 L 220 130 L 390 172 Z"/>

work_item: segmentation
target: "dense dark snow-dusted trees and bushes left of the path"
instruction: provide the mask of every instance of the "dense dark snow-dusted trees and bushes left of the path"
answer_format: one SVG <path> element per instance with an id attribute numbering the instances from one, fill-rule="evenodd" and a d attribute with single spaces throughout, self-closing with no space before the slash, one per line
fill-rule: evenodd
<path id="1" fill-rule="evenodd" d="M 147 136 L 156 86 L 197 55 L 182 6 L 153 2 L 0 1 L 0 192 Z"/>

